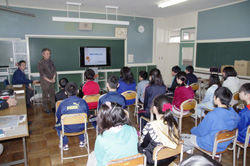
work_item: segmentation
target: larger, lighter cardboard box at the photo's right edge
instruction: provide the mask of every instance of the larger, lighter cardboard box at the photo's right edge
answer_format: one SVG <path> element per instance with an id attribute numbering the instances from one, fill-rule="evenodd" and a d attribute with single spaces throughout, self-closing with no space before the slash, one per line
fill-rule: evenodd
<path id="1" fill-rule="evenodd" d="M 246 60 L 235 60 L 234 69 L 238 75 L 250 76 L 250 61 Z"/>

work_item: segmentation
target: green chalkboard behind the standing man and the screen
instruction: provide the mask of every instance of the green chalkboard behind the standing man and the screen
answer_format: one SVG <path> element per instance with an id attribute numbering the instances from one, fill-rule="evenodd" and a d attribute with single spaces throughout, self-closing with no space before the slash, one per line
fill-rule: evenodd
<path id="1" fill-rule="evenodd" d="M 62 39 L 62 38 L 29 38 L 31 72 L 38 72 L 37 63 L 42 58 L 43 48 L 51 49 L 51 59 L 57 71 L 84 70 L 80 67 L 79 55 L 82 46 L 100 46 L 111 48 L 111 66 L 105 69 L 124 66 L 124 40 L 112 39 Z"/>

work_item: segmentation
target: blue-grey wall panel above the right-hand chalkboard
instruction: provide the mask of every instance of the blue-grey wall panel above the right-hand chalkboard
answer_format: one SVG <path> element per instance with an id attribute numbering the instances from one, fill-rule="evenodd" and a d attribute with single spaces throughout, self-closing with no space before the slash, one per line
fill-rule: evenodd
<path id="1" fill-rule="evenodd" d="M 198 13 L 198 40 L 250 37 L 250 1 Z"/>

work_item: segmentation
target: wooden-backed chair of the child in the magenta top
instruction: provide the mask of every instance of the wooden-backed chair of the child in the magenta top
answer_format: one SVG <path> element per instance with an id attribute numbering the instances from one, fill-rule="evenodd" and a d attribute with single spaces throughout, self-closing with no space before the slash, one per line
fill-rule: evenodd
<path id="1" fill-rule="evenodd" d="M 184 114 L 183 111 L 184 110 L 185 111 L 195 110 L 196 106 L 197 106 L 197 101 L 195 99 L 188 99 L 188 100 L 185 100 L 181 103 L 180 114 L 175 114 L 173 112 L 173 115 L 179 119 L 179 131 L 180 131 L 180 133 L 181 133 L 181 126 L 182 126 L 182 118 L 189 117 L 192 115 L 191 112 Z M 196 114 L 195 114 L 195 126 L 197 126 L 197 115 Z"/>

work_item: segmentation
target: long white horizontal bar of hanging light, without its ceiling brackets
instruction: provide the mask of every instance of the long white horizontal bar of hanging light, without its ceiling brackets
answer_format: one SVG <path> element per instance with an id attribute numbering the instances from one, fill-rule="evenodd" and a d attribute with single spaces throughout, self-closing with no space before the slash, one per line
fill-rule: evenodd
<path id="1" fill-rule="evenodd" d="M 129 21 L 116 21 L 116 20 L 90 19 L 90 18 L 52 17 L 52 20 L 60 22 L 84 22 L 84 23 L 96 23 L 96 24 L 129 25 Z"/>

